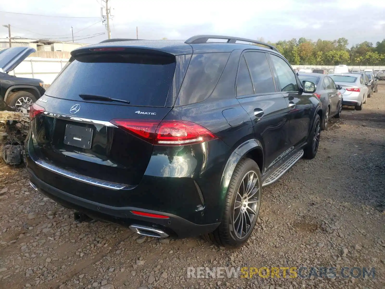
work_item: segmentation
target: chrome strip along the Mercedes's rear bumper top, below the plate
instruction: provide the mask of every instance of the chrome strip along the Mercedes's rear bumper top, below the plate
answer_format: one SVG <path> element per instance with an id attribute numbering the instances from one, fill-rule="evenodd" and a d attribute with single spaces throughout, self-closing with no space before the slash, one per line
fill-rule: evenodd
<path id="1" fill-rule="evenodd" d="M 95 186 L 102 187 L 102 188 L 109 188 L 112 190 L 122 190 L 122 189 L 126 188 L 126 185 L 117 184 L 117 183 L 110 183 L 108 181 L 102 181 L 102 180 L 98 180 L 98 179 L 94 179 L 94 178 L 89 178 L 88 176 L 83 176 L 83 175 L 79 175 L 76 173 L 72 173 L 70 171 L 58 168 L 57 166 L 50 165 L 49 163 L 46 163 L 45 161 L 42 161 L 42 160 L 37 160 L 37 161 L 35 161 L 35 163 L 37 165 L 41 166 L 42 168 L 45 168 L 49 171 L 57 173 L 58 175 L 66 176 L 67 178 L 70 178 L 72 180 L 77 180 L 77 181 L 81 181 L 83 183 L 88 183 L 88 184 L 95 185 Z"/>

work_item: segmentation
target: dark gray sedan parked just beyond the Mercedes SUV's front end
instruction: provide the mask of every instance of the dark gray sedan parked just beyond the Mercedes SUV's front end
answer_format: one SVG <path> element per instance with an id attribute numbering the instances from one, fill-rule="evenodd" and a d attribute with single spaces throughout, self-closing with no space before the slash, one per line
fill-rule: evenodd
<path id="1" fill-rule="evenodd" d="M 337 87 L 327 74 L 298 72 L 298 77 L 301 81 L 311 81 L 316 84 L 314 95 L 322 102 L 323 110 L 321 129 L 326 129 L 330 118 L 341 116 L 342 96 L 339 92 L 341 87 Z"/>

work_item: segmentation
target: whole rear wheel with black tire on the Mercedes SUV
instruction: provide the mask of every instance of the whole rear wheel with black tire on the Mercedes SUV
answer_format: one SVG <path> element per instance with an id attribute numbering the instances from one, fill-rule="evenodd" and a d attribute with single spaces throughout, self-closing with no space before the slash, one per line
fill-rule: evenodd
<path id="1" fill-rule="evenodd" d="M 245 180 L 249 180 L 251 176 L 255 181 L 254 186 L 247 190 L 248 186 L 245 186 Z M 252 184 L 253 182 L 251 182 Z M 244 194 L 245 187 L 246 193 Z M 203 238 L 224 247 L 237 248 L 243 245 L 253 232 L 258 218 L 261 193 L 262 177 L 257 163 L 249 158 L 241 159 L 231 176 L 221 223 L 214 232 L 203 235 Z M 256 196 L 257 194 L 258 196 Z M 242 198 L 246 195 L 249 195 L 248 199 Z M 253 203 L 245 202 L 247 200 L 249 202 L 252 200 Z M 244 224 L 246 224 L 245 227 L 243 227 Z"/>

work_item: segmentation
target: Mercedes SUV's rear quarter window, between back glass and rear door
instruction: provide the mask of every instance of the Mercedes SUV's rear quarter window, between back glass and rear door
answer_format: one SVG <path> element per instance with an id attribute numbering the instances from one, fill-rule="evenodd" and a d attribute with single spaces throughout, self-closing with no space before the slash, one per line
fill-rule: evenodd
<path id="1" fill-rule="evenodd" d="M 176 105 L 203 101 L 213 92 L 230 53 L 201 53 L 191 57 Z"/>

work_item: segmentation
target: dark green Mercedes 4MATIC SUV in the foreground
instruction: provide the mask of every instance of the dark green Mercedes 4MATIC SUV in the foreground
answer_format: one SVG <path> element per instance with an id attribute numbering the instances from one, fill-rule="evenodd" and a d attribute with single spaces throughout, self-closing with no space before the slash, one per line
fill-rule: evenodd
<path id="1" fill-rule="evenodd" d="M 90 218 L 236 247 L 262 188 L 317 153 L 315 84 L 271 45 L 198 35 L 71 55 L 30 110 L 25 152 L 32 187 Z"/>

